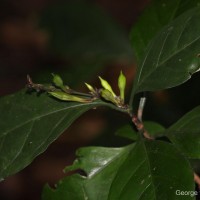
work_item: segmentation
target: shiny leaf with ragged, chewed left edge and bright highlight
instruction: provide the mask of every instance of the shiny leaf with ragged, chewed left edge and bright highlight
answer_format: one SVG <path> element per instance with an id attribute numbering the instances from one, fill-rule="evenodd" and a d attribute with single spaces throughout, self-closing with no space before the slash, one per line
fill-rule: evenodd
<path id="1" fill-rule="evenodd" d="M 86 147 L 77 151 L 78 159 L 68 170 L 82 169 L 87 177 L 75 174 L 61 180 L 56 190 L 46 186 L 43 200 L 107 199 L 109 188 L 131 146 L 123 148 Z"/>

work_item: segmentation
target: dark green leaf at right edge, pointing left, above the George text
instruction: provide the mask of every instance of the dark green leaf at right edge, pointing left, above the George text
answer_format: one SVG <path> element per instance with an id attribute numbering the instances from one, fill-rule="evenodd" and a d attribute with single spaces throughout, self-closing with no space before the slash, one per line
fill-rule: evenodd
<path id="1" fill-rule="evenodd" d="M 188 158 L 200 159 L 200 106 L 166 130 L 165 135 Z"/>

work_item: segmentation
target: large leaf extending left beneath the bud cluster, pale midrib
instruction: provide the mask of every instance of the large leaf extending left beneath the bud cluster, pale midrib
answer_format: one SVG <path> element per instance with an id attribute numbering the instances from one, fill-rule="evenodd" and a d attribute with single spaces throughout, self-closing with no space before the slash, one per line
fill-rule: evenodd
<path id="1" fill-rule="evenodd" d="M 46 150 L 76 118 L 103 102 L 61 102 L 25 91 L 0 99 L 0 179 Z"/>

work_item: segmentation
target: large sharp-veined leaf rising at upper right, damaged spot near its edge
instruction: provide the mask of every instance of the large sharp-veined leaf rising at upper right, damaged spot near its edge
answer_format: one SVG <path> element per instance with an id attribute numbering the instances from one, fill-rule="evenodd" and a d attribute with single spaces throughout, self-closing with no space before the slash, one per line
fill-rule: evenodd
<path id="1" fill-rule="evenodd" d="M 137 69 L 132 95 L 175 87 L 199 70 L 199 19 L 200 9 L 192 9 L 157 35 Z"/>

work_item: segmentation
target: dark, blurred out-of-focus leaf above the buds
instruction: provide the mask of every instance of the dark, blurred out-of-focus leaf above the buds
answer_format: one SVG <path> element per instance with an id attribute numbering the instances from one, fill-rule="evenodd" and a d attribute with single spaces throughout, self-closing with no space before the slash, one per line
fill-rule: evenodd
<path id="1" fill-rule="evenodd" d="M 72 62 L 132 61 L 128 34 L 94 3 L 54 3 L 42 12 L 40 27 L 50 50 Z"/>

